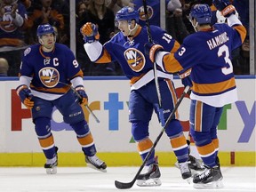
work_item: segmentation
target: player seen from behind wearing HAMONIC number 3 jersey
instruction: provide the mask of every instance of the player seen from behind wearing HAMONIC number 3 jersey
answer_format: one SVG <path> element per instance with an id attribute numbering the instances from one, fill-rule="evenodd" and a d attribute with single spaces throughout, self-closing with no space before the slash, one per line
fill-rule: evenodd
<path id="1" fill-rule="evenodd" d="M 145 45 L 152 62 L 156 61 L 164 71 L 192 69 L 190 132 L 205 166 L 204 172 L 193 178 L 195 188 L 222 187 L 217 125 L 223 106 L 237 100 L 230 57 L 246 35 L 246 29 L 235 15 L 235 7 L 228 0 L 213 0 L 213 4 L 227 18 L 228 25 L 211 26 L 209 6 L 196 4 L 189 16 L 196 33 L 188 36 L 177 52 L 161 51 L 160 44 Z"/>

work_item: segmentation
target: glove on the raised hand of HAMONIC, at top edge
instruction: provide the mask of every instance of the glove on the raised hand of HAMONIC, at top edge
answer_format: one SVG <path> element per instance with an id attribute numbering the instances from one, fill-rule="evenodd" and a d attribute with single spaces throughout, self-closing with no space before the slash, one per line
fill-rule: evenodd
<path id="1" fill-rule="evenodd" d="M 214 6 L 226 18 L 228 18 L 231 14 L 236 14 L 236 8 L 230 4 L 229 0 L 212 0 L 212 4 L 214 4 Z"/>

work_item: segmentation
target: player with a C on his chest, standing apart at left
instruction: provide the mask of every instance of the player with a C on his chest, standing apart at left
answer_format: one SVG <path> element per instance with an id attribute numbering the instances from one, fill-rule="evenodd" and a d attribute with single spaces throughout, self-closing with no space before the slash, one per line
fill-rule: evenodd
<path id="1" fill-rule="evenodd" d="M 37 28 L 40 44 L 32 45 L 24 52 L 20 65 L 20 85 L 17 94 L 22 103 L 32 110 L 33 123 L 40 146 L 47 161 L 48 174 L 57 172 L 58 156 L 51 131 L 52 108 L 59 109 L 64 122 L 76 132 L 76 138 L 85 155 L 85 162 L 102 172 L 107 165 L 96 156 L 92 133 L 84 119 L 80 104 L 87 105 L 83 72 L 73 52 L 66 45 L 57 44 L 51 25 Z M 70 86 L 80 95 L 78 101 Z"/>

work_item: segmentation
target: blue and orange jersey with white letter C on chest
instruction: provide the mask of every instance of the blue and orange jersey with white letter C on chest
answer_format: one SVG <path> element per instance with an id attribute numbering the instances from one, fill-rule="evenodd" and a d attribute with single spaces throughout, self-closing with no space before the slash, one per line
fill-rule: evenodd
<path id="1" fill-rule="evenodd" d="M 32 79 L 30 88 L 35 96 L 48 94 L 51 98 L 51 94 L 68 92 L 70 80 L 76 76 L 83 77 L 83 72 L 66 45 L 55 44 L 52 52 L 44 52 L 42 46 L 36 44 L 24 51 L 20 76 Z"/>

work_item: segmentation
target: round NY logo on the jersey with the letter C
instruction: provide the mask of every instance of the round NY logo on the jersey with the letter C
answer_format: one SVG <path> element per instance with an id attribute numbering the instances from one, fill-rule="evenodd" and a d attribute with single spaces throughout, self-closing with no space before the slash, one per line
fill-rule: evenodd
<path id="1" fill-rule="evenodd" d="M 59 83 L 60 73 L 56 68 L 42 68 L 38 72 L 38 76 L 42 84 L 44 84 L 48 88 L 52 88 Z"/>

